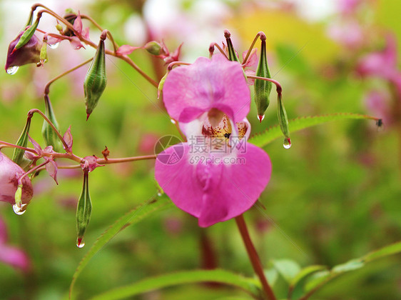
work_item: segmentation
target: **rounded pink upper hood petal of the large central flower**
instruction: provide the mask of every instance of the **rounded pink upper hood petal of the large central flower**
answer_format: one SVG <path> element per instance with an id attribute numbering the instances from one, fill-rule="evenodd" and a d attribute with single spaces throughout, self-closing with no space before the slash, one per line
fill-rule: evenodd
<path id="1" fill-rule="evenodd" d="M 178 121 L 192 121 L 216 108 L 236 122 L 249 112 L 250 91 L 240 64 L 215 55 L 173 69 L 163 86 L 163 101 L 168 114 Z"/>

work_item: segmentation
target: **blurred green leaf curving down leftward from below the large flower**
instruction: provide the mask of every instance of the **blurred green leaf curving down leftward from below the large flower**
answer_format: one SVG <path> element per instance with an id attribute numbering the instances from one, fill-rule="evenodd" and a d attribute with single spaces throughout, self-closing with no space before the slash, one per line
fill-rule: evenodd
<path id="1" fill-rule="evenodd" d="M 162 209 L 167 209 L 171 206 L 173 206 L 173 204 L 171 200 L 168 199 L 167 196 L 161 196 L 158 197 L 157 199 L 156 198 L 150 199 L 146 201 L 146 203 L 141 204 L 140 206 L 136 207 L 135 209 L 132 209 L 131 211 L 128 211 L 127 214 L 122 216 L 113 225 L 108 227 L 108 229 L 106 229 L 106 231 L 104 231 L 103 234 L 95 241 L 91 249 L 89 249 L 88 253 L 85 256 L 83 256 L 83 259 L 81 259 L 80 263 L 78 264 L 78 267 L 76 268 L 76 271 L 73 274 L 73 279 L 71 281 L 69 298 L 71 299 L 73 286 L 79 274 L 81 274 L 82 270 L 92 259 L 92 257 L 95 256 L 95 254 L 98 253 L 98 251 L 104 245 L 106 245 L 108 241 L 113 239 L 113 237 L 116 236 L 116 234 L 118 234 L 119 231 L 125 229 L 130 225 L 137 224 L 139 221 L 142 221 L 143 219 L 146 218 L 146 216 L 149 216 L 155 211 L 161 211 Z"/>

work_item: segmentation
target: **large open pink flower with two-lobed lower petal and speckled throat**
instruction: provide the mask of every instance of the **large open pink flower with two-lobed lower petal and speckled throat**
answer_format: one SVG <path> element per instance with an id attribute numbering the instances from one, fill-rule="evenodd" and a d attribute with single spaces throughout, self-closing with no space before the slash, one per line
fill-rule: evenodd
<path id="1" fill-rule="evenodd" d="M 158 155 L 155 176 L 163 191 L 202 227 L 250 209 L 271 164 L 265 151 L 246 142 L 250 91 L 240 64 L 215 55 L 173 69 L 163 99 L 188 139 Z"/>

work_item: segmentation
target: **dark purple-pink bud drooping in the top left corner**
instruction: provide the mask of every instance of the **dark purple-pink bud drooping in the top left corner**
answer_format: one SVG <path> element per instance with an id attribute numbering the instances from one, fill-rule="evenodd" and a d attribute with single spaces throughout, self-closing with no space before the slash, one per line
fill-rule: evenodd
<path id="1" fill-rule="evenodd" d="M 39 62 L 42 42 L 35 35 L 33 35 L 24 46 L 21 46 L 19 49 L 14 49 L 22 34 L 24 34 L 24 31 L 21 31 L 14 41 L 11 41 L 9 44 L 6 66 L 4 69 L 9 69 L 11 66 L 23 66 L 24 64 Z"/>

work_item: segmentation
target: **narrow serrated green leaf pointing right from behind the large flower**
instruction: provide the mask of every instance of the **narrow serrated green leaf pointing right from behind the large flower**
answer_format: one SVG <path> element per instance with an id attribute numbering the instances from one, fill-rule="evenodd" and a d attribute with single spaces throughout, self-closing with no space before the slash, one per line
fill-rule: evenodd
<path id="1" fill-rule="evenodd" d="M 378 121 L 379 119 L 373 116 L 367 116 L 364 114 L 348 114 L 348 113 L 339 113 L 339 114 L 326 114 L 324 116 L 303 116 L 297 119 L 293 119 L 288 121 L 288 127 L 290 132 L 295 132 L 301 129 L 305 129 L 311 126 L 315 126 L 318 124 L 323 124 L 329 121 L 337 121 L 337 120 L 344 120 L 344 119 L 372 119 Z M 251 136 L 249 142 L 263 147 L 269 144 L 271 141 L 278 139 L 282 136 L 280 126 L 276 125 L 266 129 L 261 134 L 255 134 Z"/>

